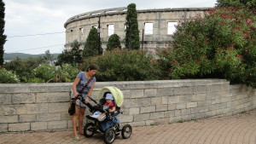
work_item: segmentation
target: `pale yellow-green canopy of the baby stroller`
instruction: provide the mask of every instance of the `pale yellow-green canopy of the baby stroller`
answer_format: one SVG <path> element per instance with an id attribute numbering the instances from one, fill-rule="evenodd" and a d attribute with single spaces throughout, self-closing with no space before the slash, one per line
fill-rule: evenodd
<path id="1" fill-rule="evenodd" d="M 102 98 L 103 92 L 105 90 L 109 91 L 113 95 L 113 99 L 114 99 L 117 107 L 121 107 L 124 102 L 124 95 L 123 95 L 122 91 L 116 87 L 103 87 L 102 89 L 100 89 L 98 99 Z"/>

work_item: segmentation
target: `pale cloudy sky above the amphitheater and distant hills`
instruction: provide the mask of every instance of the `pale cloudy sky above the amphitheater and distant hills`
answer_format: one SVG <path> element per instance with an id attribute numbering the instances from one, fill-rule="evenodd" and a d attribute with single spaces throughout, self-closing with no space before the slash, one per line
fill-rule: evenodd
<path id="1" fill-rule="evenodd" d="M 64 23 L 70 17 L 100 9 L 212 8 L 216 0 L 3 0 L 5 3 L 5 53 L 61 53 L 65 44 Z"/>

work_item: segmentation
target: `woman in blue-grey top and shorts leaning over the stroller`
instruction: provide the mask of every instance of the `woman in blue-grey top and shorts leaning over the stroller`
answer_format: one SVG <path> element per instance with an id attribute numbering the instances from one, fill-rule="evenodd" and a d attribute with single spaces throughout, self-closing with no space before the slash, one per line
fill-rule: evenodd
<path id="1" fill-rule="evenodd" d="M 95 64 L 91 64 L 86 68 L 85 72 L 79 72 L 77 78 L 75 78 L 73 82 L 73 96 L 79 95 L 79 90 L 83 88 L 84 84 L 86 84 L 90 78 L 92 78 L 98 70 L 98 66 Z M 96 84 L 96 78 L 91 79 L 90 84 L 83 90 L 81 95 L 85 98 L 86 101 L 89 101 L 87 96 L 91 96 L 93 88 Z M 85 112 L 85 105 L 82 101 L 76 101 L 75 113 L 72 116 L 72 124 L 73 124 L 73 140 L 79 141 L 79 136 L 77 133 L 77 120 L 79 116 L 79 134 L 84 135 L 82 126 L 84 120 L 84 112 Z"/>

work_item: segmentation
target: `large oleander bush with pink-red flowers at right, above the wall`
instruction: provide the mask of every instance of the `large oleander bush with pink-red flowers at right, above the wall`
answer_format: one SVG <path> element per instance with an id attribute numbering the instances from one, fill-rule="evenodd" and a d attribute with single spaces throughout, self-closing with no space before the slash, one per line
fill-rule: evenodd
<path id="1" fill-rule="evenodd" d="M 159 50 L 170 78 L 226 78 L 256 87 L 255 16 L 241 9 L 212 9 L 177 26 L 172 48 Z"/>

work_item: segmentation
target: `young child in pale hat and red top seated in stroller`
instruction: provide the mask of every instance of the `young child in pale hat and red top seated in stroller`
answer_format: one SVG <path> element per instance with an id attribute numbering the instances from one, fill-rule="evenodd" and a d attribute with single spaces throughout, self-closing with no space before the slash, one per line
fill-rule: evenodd
<path id="1" fill-rule="evenodd" d="M 113 95 L 112 94 L 107 94 L 106 95 L 106 103 L 103 106 L 103 110 L 108 110 L 108 112 L 115 112 L 115 106 L 113 104 Z M 106 114 L 96 111 L 93 113 L 93 115 L 91 116 L 92 118 L 97 118 L 100 121 L 102 121 L 103 119 L 106 118 Z"/>

